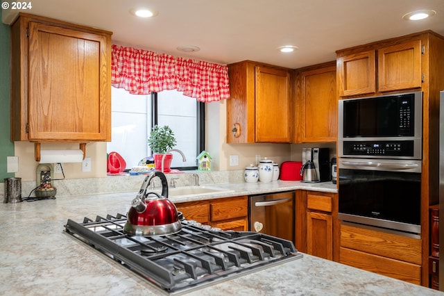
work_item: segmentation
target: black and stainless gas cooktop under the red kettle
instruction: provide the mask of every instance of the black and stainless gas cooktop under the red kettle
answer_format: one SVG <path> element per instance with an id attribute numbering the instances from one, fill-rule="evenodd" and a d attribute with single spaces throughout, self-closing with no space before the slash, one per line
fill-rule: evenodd
<path id="1" fill-rule="evenodd" d="M 171 295 L 302 257 L 293 242 L 262 233 L 219 231 L 182 220 L 182 230 L 167 236 L 123 233 L 126 216 L 117 214 L 83 223 L 68 220 L 65 231 L 142 275 Z"/>

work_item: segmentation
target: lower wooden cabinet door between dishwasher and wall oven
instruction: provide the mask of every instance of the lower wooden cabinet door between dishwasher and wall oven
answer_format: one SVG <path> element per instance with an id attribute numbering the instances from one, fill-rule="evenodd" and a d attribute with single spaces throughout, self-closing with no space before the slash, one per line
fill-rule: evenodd
<path id="1" fill-rule="evenodd" d="M 307 213 L 307 252 L 333 260 L 332 215 L 310 211 Z"/>

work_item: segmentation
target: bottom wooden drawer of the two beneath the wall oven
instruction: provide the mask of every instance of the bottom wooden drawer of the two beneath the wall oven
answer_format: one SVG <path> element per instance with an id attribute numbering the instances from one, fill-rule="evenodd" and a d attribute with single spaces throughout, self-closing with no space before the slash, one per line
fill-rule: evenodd
<path id="1" fill-rule="evenodd" d="M 417 285 L 421 283 L 421 266 L 413 263 L 359 252 L 344 247 L 340 248 L 339 262 L 362 270 L 382 274 L 386 277 L 408 281 L 409 283 L 416 283 Z"/>

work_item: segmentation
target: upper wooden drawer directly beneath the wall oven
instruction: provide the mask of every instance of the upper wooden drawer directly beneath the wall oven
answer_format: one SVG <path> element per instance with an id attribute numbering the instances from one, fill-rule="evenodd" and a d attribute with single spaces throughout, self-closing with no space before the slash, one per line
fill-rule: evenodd
<path id="1" fill-rule="evenodd" d="M 420 265 L 421 240 L 392 233 L 341 225 L 341 247 Z"/>

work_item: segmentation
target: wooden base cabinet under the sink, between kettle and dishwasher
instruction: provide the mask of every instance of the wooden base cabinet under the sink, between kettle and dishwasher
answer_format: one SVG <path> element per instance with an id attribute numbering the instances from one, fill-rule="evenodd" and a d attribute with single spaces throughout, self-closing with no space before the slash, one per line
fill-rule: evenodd
<path id="1" fill-rule="evenodd" d="M 187 220 L 222 230 L 248 231 L 248 197 L 207 199 L 176 204 Z"/>

